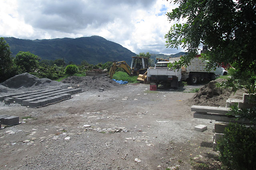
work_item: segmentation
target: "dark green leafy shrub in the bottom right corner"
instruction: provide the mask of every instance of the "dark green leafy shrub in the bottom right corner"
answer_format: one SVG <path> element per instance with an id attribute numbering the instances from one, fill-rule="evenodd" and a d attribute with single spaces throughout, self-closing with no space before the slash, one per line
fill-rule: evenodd
<path id="1" fill-rule="evenodd" d="M 256 170 L 256 128 L 230 123 L 218 142 L 220 160 L 234 170 Z"/>

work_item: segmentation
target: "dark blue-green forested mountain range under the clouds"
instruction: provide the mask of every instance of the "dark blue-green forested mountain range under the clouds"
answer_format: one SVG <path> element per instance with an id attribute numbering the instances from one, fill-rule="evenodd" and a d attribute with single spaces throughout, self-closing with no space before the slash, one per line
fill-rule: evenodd
<path id="1" fill-rule="evenodd" d="M 24 40 L 18 38 L 4 38 L 10 46 L 12 56 L 15 57 L 19 51 L 30 51 L 41 59 L 62 59 L 66 63 L 72 61 L 80 64 L 86 60 L 90 64 L 106 63 L 107 61 L 131 62 L 131 57 L 136 56 L 122 45 L 111 42 L 100 36 L 81 38 L 56 38 L 50 40 Z M 146 51 L 145 51 L 146 53 Z M 178 57 L 184 52 L 176 55 L 151 54 L 152 59 Z"/>

